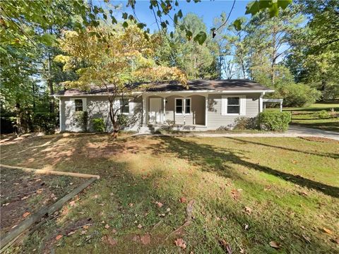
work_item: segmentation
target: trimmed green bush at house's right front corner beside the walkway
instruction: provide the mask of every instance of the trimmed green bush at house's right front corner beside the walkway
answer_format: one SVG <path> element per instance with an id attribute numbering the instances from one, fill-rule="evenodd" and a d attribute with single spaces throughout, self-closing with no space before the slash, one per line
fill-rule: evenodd
<path id="1" fill-rule="evenodd" d="M 267 131 L 286 131 L 290 121 L 290 112 L 265 111 L 259 114 L 261 129 Z"/>

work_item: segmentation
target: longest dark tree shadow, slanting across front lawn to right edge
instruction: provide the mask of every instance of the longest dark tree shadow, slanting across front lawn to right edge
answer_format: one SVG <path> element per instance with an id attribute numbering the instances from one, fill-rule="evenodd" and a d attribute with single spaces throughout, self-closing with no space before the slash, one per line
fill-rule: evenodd
<path id="1" fill-rule="evenodd" d="M 203 170 L 206 171 L 215 171 L 218 174 L 225 176 L 225 169 L 222 169 L 219 166 L 223 161 L 230 161 L 234 164 L 248 167 L 249 169 L 255 169 L 266 174 L 278 176 L 285 181 L 290 181 L 291 183 L 295 183 L 299 186 L 313 188 L 334 198 L 339 198 L 339 188 L 337 187 L 328 186 L 323 183 L 305 179 L 302 176 L 271 169 L 270 167 L 260 164 L 247 162 L 244 160 L 244 157 L 237 155 L 237 152 L 234 152 L 234 150 L 213 147 L 213 145 L 197 144 L 191 141 L 184 141 L 179 138 L 163 137 L 162 140 L 165 144 L 167 144 L 167 150 L 175 152 L 179 158 L 188 159 L 192 164 L 202 166 Z"/>

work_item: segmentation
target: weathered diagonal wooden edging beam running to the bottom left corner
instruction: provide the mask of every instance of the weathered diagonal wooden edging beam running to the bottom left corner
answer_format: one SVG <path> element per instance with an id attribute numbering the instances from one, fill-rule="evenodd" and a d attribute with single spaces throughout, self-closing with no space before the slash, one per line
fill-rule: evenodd
<path id="1" fill-rule="evenodd" d="M 25 219 L 23 222 L 20 222 L 18 226 L 16 226 L 12 231 L 9 231 L 3 238 L 1 238 L 1 251 L 2 253 L 8 246 L 10 246 L 20 234 L 23 234 L 26 230 L 30 228 L 33 224 L 40 221 L 42 217 L 48 217 L 50 214 L 54 214 L 57 210 L 60 210 L 61 207 L 64 205 L 65 202 L 71 200 L 75 195 L 83 191 L 87 186 L 89 186 L 91 183 L 93 183 L 95 180 L 97 180 L 96 177 L 92 177 L 88 179 L 88 181 L 85 181 L 85 183 L 81 184 L 81 186 L 78 186 L 73 191 L 71 191 L 69 194 L 65 195 L 63 198 L 59 199 L 57 202 L 55 202 L 53 205 L 50 205 L 49 207 L 42 207 L 41 210 L 36 212 L 35 214 L 32 214 L 30 217 Z"/>

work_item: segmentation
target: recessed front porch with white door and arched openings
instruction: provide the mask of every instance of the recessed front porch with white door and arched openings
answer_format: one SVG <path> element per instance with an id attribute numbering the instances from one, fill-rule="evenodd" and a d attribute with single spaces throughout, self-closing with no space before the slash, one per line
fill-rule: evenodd
<path id="1" fill-rule="evenodd" d="M 205 130 L 207 105 L 208 95 L 144 95 L 143 126 L 173 124 L 178 131 Z"/>

